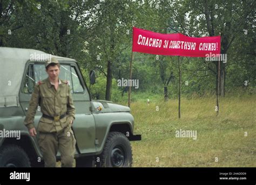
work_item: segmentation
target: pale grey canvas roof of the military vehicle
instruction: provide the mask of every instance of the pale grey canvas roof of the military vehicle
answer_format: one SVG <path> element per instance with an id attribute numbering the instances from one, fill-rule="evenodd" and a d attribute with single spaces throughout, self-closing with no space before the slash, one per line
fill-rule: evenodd
<path id="1" fill-rule="evenodd" d="M 0 107 L 19 106 L 18 94 L 21 88 L 25 64 L 31 56 L 46 55 L 43 51 L 0 47 Z M 56 57 L 59 61 L 75 61 L 71 58 Z M 35 63 L 43 60 L 36 60 Z"/>

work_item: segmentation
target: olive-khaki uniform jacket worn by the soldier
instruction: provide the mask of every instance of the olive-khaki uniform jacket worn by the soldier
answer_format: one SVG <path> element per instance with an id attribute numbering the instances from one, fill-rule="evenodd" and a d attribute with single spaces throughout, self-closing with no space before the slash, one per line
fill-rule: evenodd
<path id="1" fill-rule="evenodd" d="M 41 112 L 56 117 L 67 114 L 66 117 L 59 121 L 53 121 L 48 118 L 41 117 L 37 127 L 37 131 L 44 133 L 59 132 L 67 126 L 71 127 L 70 120 L 75 119 L 75 106 L 70 93 L 70 87 L 67 81 L 59 80 L 58 90 L 50 83 L 49 78 L 39 81 L 35 85 L 29 102 L 28 113 L 24 121 L 28 129 L 34 128 L 33 121 L 35 118 L 37 107 L 41 106 Z"/>

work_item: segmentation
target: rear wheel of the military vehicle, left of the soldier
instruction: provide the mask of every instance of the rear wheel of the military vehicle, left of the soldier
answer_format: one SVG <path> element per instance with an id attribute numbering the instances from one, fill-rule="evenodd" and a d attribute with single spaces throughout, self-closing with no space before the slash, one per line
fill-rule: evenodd
<path id="1" fill-rule="evenodd" d="M 0 149 L 0 167 L 30 167 L 29 157 L 19 146 L 2 146 Z"/>

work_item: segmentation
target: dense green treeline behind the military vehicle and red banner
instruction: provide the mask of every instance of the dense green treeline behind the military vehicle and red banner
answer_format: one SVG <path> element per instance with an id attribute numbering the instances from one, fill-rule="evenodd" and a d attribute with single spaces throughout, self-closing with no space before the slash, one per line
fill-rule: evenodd
<path id="1" fill-rule="evenodd" d="M 255 1 L 1 1 L 0 46 L 42 50 L 75 58 L 85 79 L 97 73 L 94 98 L 119 100 L 128 88 L 132 27 L 191 37 L 221 34 L 220 95 L 255 93 Z M 134 53 L 133 92 L 178 93 L 178 57 Z M 181 92 L 214 94 L 216 61 L 180 57 Z"/>

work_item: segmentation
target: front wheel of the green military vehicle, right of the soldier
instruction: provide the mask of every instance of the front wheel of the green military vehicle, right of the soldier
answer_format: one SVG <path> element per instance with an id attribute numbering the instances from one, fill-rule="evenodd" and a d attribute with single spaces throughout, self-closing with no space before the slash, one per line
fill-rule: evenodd
<path id="1" fill-rule="evenodd" d="M 100 167 L 131 167 L 130 141 L 120 132 L 110 132 L 100 155 Z"/>

